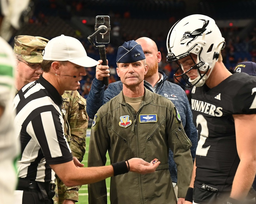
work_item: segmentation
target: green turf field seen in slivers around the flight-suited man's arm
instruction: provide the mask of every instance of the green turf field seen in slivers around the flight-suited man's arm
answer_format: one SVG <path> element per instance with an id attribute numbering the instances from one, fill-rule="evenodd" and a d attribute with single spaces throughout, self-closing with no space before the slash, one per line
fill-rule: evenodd
<path id="1" fill-rule="evenodd" d="M 87 132 L 88 132 L 88 130 L 87 130 Z M 86 137 L 86 152 L 85 152 L 85 155 L 84 155 L 84 160 L 82 162 L 85 167 L 87 167 L 89 140 L 90 140 L 90 137 L 87 136 Z M 109 160 L 108 153 L 107 153 L 107 164 L 106 165 L 109 165 L 109 164 L 110 164 L 110 160 Z M 108 203 L 110 203 L 110 201 L 109 201 L 110 178 L 106 179 L 106 184 L 107 184 L 107 192 L 108 192 Z M 78 204 L 87 204 L 88 203 L 88 188 L 87 188 L 87 185 L 83 185 L 79 189 L 79 201 L 77 203 Z"/>

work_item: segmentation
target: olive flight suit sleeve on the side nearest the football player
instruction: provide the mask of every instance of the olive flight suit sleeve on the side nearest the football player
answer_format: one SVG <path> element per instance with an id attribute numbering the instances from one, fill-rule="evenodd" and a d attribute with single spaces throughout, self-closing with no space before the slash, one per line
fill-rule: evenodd
<path id="1" fill-rule="evenodd" d="M 176 107 L 170 111 L 167 120 L 168 143 L 177 164 L 178 198 L 185 198 L 193 170 L 193 160 L 190 153 L 191 142 L 181 124 L 180 114 Z"/>

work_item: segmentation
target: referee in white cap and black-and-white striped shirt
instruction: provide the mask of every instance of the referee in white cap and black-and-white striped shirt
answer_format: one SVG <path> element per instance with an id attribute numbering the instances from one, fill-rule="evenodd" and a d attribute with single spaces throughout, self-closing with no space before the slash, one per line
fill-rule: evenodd
<path id="1" fill-rule="evenodd" d="M 77 168 L 83 164 L 72 157 L 64 136 L 61 95 L 78 88 L 79 80 L 86 75 L 84 67 L 101 61 L 88 57 L 79 40 L 64 35 L 48 42 L 43 59 L 43 75 L 25 85 L 14 98 L 14 123 L 21 142 L 15 204 L 52 204 L 55 173 L 65 185 L 77 186 L 128 171 L 145 174 L 156 170 L 160 162 L 149 164 L 140 158 L 109 166 Z"/>

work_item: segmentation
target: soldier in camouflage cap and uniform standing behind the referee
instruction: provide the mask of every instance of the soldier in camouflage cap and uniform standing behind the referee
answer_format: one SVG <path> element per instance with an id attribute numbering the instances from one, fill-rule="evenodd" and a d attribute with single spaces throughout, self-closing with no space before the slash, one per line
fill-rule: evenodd
<path id="1" fill-rule="evenodd" d="M 19 35 L 14 38 L 13 52 L 18 60 L 15 87 L 19 91 L 24 85 L 35 81 L 43 73 L 41 62 L 43 50 L 49 40 L 42 37 Z M 64 131 L 74 157 L 80 162 L 85 153 L 85 137 L 88 116 L 85 111 L 86 100 L 78 91 L 65 91 L 62 95 L 62 113 L 65 122 Z M 75 203 L 78 201 L 78 189 L 81 186 L 67 187 L 56 176 L 56 195 L 54 203 Z"/>

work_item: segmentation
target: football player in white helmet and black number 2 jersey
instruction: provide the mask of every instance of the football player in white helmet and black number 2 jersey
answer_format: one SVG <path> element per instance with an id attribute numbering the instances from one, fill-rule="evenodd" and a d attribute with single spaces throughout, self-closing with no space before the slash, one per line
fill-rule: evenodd
<path id="1" fill-rule="evenodd" d="M 228 71 L 220 53 L 224 38 L 208 16 L 178 21 L 166 46 L 167 62 L 183 70 L 174 77 L 193 87 L 198 146 L 186 204 L 248 203 L 256 173 L 256 78 Z"/>

